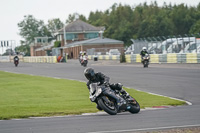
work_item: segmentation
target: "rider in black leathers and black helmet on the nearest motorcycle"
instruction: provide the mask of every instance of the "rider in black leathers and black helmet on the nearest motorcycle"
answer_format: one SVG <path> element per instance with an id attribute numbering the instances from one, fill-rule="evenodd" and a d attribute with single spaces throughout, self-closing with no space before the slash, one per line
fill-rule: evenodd
<path id="1" fill-rule="evenodd" d="M 125 96 L 127 98 L 129 97 L 129 94 L 122 88 L 121 83 L 109 84 L 110 78 L 101 72 L 95 73 L 94 69 L 86 68 L 84 70 L 84 75 L 89 80 L 87 82 L 88 89 L 90 89 L 91 83 L 98 83 L 99 85 L 105 84 L 105 85 L 108 85 L 112 90 L 118 90 L 123 96 Z M 117 105 L 118 105 L 117 109 L 119 110 L 119 107 L 122 105 L 121 101 L 123 101 L 123 100 L 120 99 L 119 97 L 117 97 L 115 94 L 110 93 L 109 95 L 112 95 L 112 97 L 114 97 L 115 99 L 118 99 L 117 100 Z M 98 105 L 97 105 L 97 109 L 101 110 L 98 107 Z"/>

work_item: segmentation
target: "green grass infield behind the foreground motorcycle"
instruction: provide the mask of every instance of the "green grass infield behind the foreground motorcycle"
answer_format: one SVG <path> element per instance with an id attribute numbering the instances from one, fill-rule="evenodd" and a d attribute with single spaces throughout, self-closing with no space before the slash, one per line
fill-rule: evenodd
<path id="1" fill-rule="evenodd" d="M 126 89 L 141 107 L 184 102 Z M 97 112 L 86 83 L 0 71 L 0 119 Z"/>

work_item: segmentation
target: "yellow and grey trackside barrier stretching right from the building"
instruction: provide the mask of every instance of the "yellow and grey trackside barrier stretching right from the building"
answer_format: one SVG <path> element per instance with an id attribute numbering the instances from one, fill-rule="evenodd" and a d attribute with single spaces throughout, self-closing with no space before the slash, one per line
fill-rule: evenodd
<path id="1" fill-rule="evenodd" d="M 94 55 L 89 55 L 90 60 Z M 98 55 L 99 60 L 120 60 L 119 55 Z M 125 55 L 127 63 L 140 63 L 139 54 Z M 150 63 L 200 63 L 200 53 L 169 53 L 169 54 L 150 54 Z"/>

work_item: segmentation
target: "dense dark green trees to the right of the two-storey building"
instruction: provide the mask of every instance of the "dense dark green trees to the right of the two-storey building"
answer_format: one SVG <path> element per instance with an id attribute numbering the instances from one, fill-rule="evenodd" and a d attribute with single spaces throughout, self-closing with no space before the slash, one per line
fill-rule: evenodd
<path id="1" fill-rule="evenodd" d="M 134 8 L 113 4 L 105 12 L 90 12 L 88 22 L 95 26 L 105 26 L 105 37 L 122 40 L 128 46 L 131 38 L 197 33 L 199 31 L 194 29 L 199 29 L 199 19 L 200 3 L 197 7 L 166 3 L 159 7 L 155 1 L 150 5 L 145 2 Z"/>

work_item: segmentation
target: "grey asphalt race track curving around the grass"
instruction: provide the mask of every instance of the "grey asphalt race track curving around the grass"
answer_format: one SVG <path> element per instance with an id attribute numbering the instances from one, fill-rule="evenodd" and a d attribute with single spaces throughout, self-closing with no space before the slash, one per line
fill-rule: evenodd
<path id="1" fill-rule="evenodd" d="M 0 133 L 124 133 L 200 126 L 200 64 L 151 64 L 142 68 L 141 64 L 90 61 L 88 66 L 111 77 L 111 82 L 187 100 L 192 105 L 116 116 L 103 113 L 6 120 L 0 121 Z M 0 63 L 0 71 L 86 81 L 84 68 L 76 60 L 66 64 L 20 63 L 17 68 L 13 63 Z"/>

